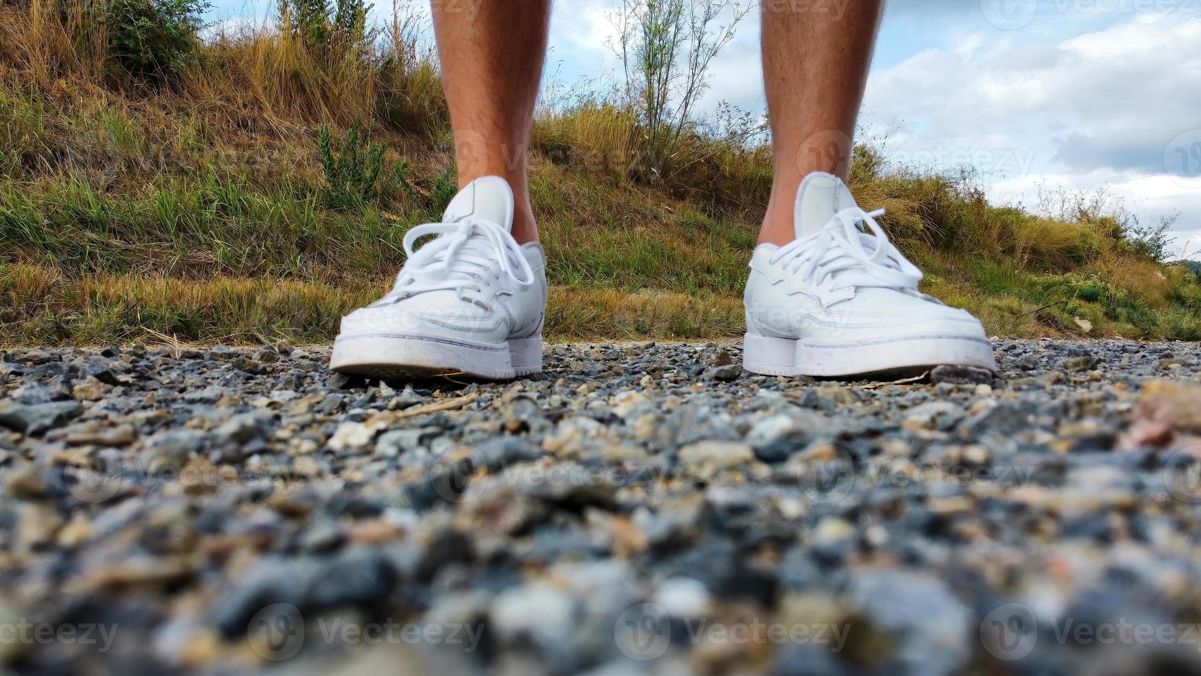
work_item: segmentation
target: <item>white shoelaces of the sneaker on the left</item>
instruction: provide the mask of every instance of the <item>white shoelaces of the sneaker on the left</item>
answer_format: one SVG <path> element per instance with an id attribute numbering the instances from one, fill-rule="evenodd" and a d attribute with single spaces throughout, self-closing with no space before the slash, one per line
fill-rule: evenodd
<path id="1" fill-rule="evenodd" d="M 429 234 L 441 237 L 414 252 L 413 244 Z M 450 223 L 424 223 L 405 234 L 404 246 L 405 267 L 396 275 L 396 287 L 384 300 L 465 286 L 479 291 L 483 275 L 492 279 L 509 275 L 520 287 L 528 287 L 534 281 L 521 245 L 491 221 L 462 219 Z"/>

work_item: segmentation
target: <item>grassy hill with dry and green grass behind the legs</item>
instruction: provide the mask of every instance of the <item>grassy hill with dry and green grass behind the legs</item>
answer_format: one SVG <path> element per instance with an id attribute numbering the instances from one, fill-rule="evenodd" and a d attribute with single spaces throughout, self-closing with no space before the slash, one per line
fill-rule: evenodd
<path id="1" fill-rule="evenodd" d="M 291 30 L 197 43 L 185 22 L 131 58 L 113 11 L 0 0 L 0 342 L 329 341 L 454 192 L 436 66 L 402 22 L 340 50 Z M 368 144 L 345 146 L 357 126 Z M 539 114 L 552 340 L 742 333 L 769 151 L 689 131 L 673 171 L 649 172 L 644 136 L 596 100 Z M 355 150 L 348 178 L 330 168 Z M 1201 337 L 1196 270 L 1155 261 L 1104 201 L 998 208 L 970 174 L 889 167 L 868 146 L 852 190 L 888 209 L 924 289 L 994 334 Z"/>

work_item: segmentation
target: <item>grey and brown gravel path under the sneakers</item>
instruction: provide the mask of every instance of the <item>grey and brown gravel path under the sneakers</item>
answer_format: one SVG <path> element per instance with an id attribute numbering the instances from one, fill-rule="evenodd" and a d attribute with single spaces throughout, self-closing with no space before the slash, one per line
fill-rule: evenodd
<path id="1" fill-rule="evenodd" d="M 1002 373 L 548 348 L 411 387 L 328 351 L 0 361 L 0 669 L 1197 674 L 1194 343 Z"/>

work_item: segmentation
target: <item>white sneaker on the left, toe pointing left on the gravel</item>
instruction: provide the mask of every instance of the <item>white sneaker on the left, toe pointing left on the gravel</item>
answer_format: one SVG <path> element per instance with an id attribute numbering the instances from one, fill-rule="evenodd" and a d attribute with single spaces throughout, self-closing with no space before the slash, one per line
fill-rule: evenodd
<path id="1" fill-rule="evenodd" d="M 330 367 L 401 378 L 542 371 L 545 255 L 538 243 L 518 245 L 512 228 L 509 184 L 498 177 L 472 181 L 441 223 L 408 231 L 395 288 L 342 318 Z M 414 252 L 429 234 L 440 237 Z"/>

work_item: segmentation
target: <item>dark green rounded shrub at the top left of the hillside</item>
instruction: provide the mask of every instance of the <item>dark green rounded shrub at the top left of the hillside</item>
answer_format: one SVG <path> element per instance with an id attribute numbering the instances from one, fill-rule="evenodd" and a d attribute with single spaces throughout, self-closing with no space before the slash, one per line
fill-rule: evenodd
<path id="1" fill-rule="evenodd" d="M 162 82 L 197 55 L 204 0 L 107 0 L 108 50 L 131 76 Z"/>

